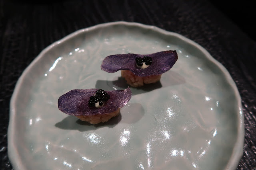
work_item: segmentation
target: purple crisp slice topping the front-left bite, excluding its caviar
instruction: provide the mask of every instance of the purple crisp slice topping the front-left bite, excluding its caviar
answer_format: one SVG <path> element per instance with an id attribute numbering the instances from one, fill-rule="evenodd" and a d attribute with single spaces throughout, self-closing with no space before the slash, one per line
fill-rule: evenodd
<path id="1" fill-rule="evenodd" d="M 128 87 L 125 90 L 106 91 L 110 99 L 100 108 L 90 107 L 89 100 L 99 89 L 71 90 L 60 96 L 58 107 L 60 111 L 74 116 L 106 114 L 116 111 L 119 107 L 124 107 L 132 98 L 132 92 Z"/>

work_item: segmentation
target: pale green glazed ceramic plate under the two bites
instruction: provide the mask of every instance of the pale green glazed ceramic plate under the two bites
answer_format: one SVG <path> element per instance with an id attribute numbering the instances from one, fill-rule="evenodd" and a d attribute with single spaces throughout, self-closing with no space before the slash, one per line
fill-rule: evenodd
<path id="1" fill-rule="evenodd" d="M 160 82 L 132 88 L 121 115 L 90 125 L 58 110 L 72 89 L 124 89 L 113 54 L 176 50 Z M 200 45 L 154 26 L 114 22 L 76 31 L 26 68 L 10 104 L 15 169 L 235 169 L 244 141 L 241 100 L 228 71 Z"/>

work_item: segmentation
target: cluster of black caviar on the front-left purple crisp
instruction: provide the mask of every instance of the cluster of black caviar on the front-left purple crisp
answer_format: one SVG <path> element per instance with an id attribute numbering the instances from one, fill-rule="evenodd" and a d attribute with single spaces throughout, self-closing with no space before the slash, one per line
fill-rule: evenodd
<path id="1" fill-rule="evenodd" d="M 108 99 L 110 99 L 110 96 L 104 90 L 97 90 L 96 94 L 90 97 L 89 106 L 95 107 L 97 102 L 99 102 L 99 105 L 102 106 L 104 102 L 108 101 Z"/>

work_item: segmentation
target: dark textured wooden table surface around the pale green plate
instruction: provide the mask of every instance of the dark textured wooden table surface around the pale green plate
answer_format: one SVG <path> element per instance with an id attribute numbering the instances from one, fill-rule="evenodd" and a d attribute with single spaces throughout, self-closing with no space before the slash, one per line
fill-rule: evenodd
<path id="1" fill-rule="evenodd" d="M 12 169 L 7 155 L 9 103 L 23 70 L 58 39 L 111 21 L 139 22 L 180 33 L 228 69 L 244 112 L 244 155 L 238 169 L 256 169 L 256 42 L 205 0 L 0 0 L 0 168 Z"/>

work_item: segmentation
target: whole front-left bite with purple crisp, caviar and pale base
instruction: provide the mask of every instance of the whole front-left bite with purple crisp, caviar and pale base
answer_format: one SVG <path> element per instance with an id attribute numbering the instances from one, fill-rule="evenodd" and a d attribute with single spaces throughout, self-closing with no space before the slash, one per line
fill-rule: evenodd
<path id="1" fill-rule="evenodd" d="M 112 91 L 102 89 L 71 90 L 60 96 L 58 108 L 82 121 L 97 124 L 119 115 L 120 108 L 124 107 L 131 97 L 132 92 L 129 87 L 125 90 Z"/>

